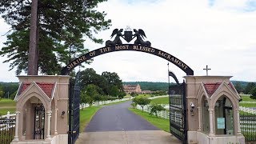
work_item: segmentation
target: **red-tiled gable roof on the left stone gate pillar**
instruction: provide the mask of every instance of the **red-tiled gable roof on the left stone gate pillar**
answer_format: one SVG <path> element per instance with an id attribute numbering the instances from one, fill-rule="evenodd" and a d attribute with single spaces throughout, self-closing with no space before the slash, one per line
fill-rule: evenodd
<path id="1" fill-rule="evenodd" d="M 17 96 L 22 94 L 30 85 L 36 84 L 48 98 L 52 99 L 54 97 L 54 89 L 56 87 L 55 83 L 45 83 L 45 82 L 31 82 L 31 83 L 22 83 L 19 87 Z"/>

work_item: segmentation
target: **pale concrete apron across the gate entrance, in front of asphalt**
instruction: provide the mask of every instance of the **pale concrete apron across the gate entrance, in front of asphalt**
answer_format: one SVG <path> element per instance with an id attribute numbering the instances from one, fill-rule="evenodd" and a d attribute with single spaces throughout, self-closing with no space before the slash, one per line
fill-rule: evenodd
<path id="1" fill-rule="evenodd" d="M 182 144 L 162 130 L 105 131 L 82 133 L 76 144 Z"/>

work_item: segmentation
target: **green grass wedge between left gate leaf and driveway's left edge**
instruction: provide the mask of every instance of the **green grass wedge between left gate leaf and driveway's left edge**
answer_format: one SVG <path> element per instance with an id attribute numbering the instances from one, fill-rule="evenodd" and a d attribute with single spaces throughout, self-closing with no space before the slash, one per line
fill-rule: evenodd
<path id="1" fill-rule="evenodd" d="M 83 110 L 80 110 L 80 132 L 82 132 L 86 125 L 90 122 L 91 118 L 93 118 L 94 114 L 101 109 L 99 106 L 90 106 L 86 107 Z"/>

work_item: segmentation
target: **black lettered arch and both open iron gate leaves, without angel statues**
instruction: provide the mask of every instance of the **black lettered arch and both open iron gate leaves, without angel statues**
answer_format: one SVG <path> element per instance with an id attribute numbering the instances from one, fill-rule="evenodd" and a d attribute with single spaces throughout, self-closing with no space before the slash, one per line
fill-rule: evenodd
<path id="1" fill-rule="evenodd" d="M 167 61 L 173 63 L 174 65 L 178 66 L 181 70 L 183 70 L 186 75 L 194 75 L 194 70 L 190 68 L 190 66 L 187 66 L 186 63 L 182 62 L 180 59 L 174 57 L 171 54 L 166 53 L 165 51 L 158 50 L 154 47 L 150 46 L 142 46 L 137 44 L 121 44 L 121 45 L 114 45 L 114 46 L 105 46 L 102 48 L 99 48 L 97 50 L 92 50 L 86 54 L 83 54 L 82 56 L 75 58 L 73 61 L 71 61 L 68 65 L 64 66 L 62 68 L 61 74 L 67 75 L 70 74 L 70 71 L 74 70 L 76 66 L 79 66 L 82 62 L 86 62 L 87 60 L 90 60 L 91 58 L 97 57 L 102 54 L 107 54 L 110 52 L 115 51 L 124 51 L 124 50 L 130 50 L 130 51 L 138 51 L 138 52 L 144 52 L 148 54 L 154 54 L 160 58 L 164 58 Z M 80 86 L 79 86 L 79 75 L 78 73 L 75 78 L 75 82 L 70 81 L 70 96 L 69 96 L 69 144 L 73 144 L 75 140 L 78 138 L 79 135 L 79 104 L 80 104 Z M 174 78 L 174 77 L 173 77 Z M 174 78 L 175 79 L 175 78 Z M 176 82 L 177 78 L 175 79 Z M 186 142 L 186 84 L 183 82 L 182 84 L 177 84 L 176 87 L 169 87 L 169 92 L 171 90 L 178 90 L 180 94 L 182 101 L 179 111 L 182 111 L 181 114 L 182 118 L 182 124 L 180 126 L 177 126 L 177 123 L 171 122 L 170 119 L 170 132 L 174 134 L 177 138 L 181 139 L 183 142 Z M 169 97 L 170 98 L 170 97 Z M 170 102 L 171 101 L 170 99 Z M 175 100 L 174 100 L 175 102 Z M 171 103 L 170 103 L 171 107 Z M 175 107 L 175 106 L 172 106 Z M 175 110 L 178 109 L 177 107 L 172 109 Z M 171 110 L 171 109 L 170 109 Z M 185 119 L 184 119 L 185 118 Z M 175 128 L 175 129 L 174 129 Z M 179 134 L 177 131 L 180 131 Z"/>

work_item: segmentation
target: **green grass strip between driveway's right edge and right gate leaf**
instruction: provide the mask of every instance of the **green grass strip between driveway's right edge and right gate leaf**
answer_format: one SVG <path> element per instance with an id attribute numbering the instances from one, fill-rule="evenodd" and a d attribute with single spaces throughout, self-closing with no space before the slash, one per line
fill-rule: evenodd
<path id="1" fill-rule="evenodd" d="M 138 114 L 142 118 L 146 119 L 146 121 L 150 122 L 152 125 L 158 127 L 160 130 L 165 130 L 170 132 L 170 122 L 169 119 L 157 118 L 154 115 L 150 115 L 142 110 L 137 110 L 133 108 L 129 108 L 129 110 L 133 111 L 135 114 Z"/>

